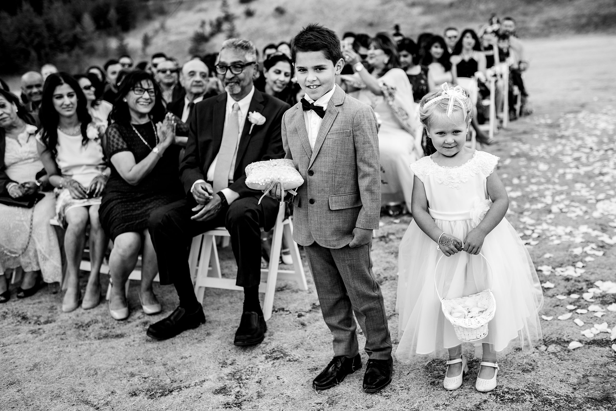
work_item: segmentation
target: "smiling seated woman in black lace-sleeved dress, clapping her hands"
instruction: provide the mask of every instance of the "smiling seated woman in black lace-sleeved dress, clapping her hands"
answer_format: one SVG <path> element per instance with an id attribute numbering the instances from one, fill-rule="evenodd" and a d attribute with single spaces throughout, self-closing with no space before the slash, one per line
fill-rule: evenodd
<path id="1" fill-rule="evenodd" d="M 160 68 L 160 65 L 159 65 Z M 128 318 L 126 280 L 142 251 L 139 301 L 145 314 L 160 313 L 152 290 L 158 273 L 156 253 L 148 233 L 152 210 L 184 195 L 177 175 L 178 146 L 173 124 L 165 118 L 163 97 L 152 74 L 136 70 L 127 74 L 111 111 L 104 146 L 111 162 L 111 176 L 103 191 L 100 221 L 113 241 L 109 257 L 111 299 L 109 313 L 116 320 Z"/>

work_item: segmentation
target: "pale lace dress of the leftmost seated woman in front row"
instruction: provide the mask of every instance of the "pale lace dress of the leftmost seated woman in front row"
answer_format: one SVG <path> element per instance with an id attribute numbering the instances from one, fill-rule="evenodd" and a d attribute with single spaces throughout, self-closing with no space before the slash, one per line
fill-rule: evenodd
<path id="1" fill-rule="evenodd" d="M 43 169 L 36 151 L 35 132 L 36 127 L 28 125 L 17 140 L 6 138 L 6 174 L 17 183 L 33 182 L 36 173 Z M 45 198 L 34 206 L 32 238 L 28 244 L 32 212 L 33 209 L 0 204 L 0 273 L 21 266 L 26 272 L 41 270 L 45 282 L 60 282 L 60 247 L 54 228 L 49 224 L 49 220 L 55 216 L 54 193 L 45 193 Z M 10 257 L 4 251 L 17 254 L 22 252 L 26 244 L 28 248 L 20 257 Z"/>

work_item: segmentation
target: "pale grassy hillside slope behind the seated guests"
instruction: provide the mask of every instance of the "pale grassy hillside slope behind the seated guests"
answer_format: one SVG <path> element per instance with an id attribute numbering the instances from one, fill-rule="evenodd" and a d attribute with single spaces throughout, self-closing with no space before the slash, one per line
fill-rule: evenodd
<path id="1" fill-rule="evenodd" d="M 162 51 L 185 60 L 189 57 L 190 38 L 201 21 L 209 22 L 221 15 L 221 0 L 176 0 L 165 4 L 168 15 L 142 24 L 126 36 L 133 55 L 141 54 L 142 38 L 148 33 L 152 43 L 146 54 Z M 414 38 L 423 31 L 441 33 L 450 25 L 477 28 L 492 13 L 515 17 L 522 37 L 613 32 L 616 27 L 613 0 L 253 0 L 248 4 L 230 0 L 229 7 L 237 16 L 237 33 L 252 39 L 259 48 L 290 39 L 310 22 L 320 22 L 340 34 L 346 30 L 368 34 L 391 31 L 398 23 L 402 33 Z M 246 8 L 252 11 L 251 17 L 247 17 Z M 206 51 L 217 50 L 224 39 L 225 35 L 219 34 Z"/>

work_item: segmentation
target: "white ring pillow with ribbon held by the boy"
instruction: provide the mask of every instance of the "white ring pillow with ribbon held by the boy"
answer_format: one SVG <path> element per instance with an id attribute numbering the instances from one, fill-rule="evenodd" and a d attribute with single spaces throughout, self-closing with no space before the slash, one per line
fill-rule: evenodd
<path id="1" fill-rule="evenodd" d="M 246 166 L 246 186 L 249 188 L 264 190 L 265 196 L 277 183 L 280 183 L 283 191 L 293 190 L 304 184 L 304 178 L 295 169 L 293 160 L 257 161 Z"/>

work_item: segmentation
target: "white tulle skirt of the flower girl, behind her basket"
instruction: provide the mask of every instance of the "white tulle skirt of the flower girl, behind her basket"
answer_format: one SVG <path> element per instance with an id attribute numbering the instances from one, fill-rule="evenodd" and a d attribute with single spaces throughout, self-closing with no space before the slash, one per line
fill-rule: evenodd
<path id="1" fill-rule="evenodd" d="M 471 221 L 434 220 L 445 233 L 460 240 L 471 231 Z M 411 221 L 399 252 L 396 308 L 400 343 L 395 352 L 399 361 L 445 357 L 448 348 L 462 343 L 442 313 L 437 287 L 445 298 L 492 290 L 496 313 L 488 324 L 487 337 L 465 343 L 474 346 L 477 357 L 481 357 L 482 343 L 491 344 L 497 354 L 513 348 L 532 351 L 540 343 L 541 284 L 529 252 L 509 221 L 503 218 L 485 237 L 481 253 L 485 259 L 466 252 L 440 258 L 444 254 L 436 249 L 436 243 Z"/>

